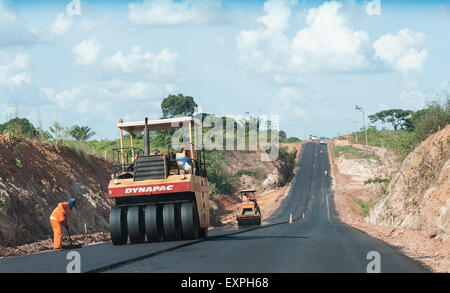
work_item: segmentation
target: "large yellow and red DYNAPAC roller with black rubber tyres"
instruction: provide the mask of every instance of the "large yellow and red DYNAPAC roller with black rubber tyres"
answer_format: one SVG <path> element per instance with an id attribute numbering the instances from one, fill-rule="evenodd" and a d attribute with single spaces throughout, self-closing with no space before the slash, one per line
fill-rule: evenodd
<path id="1" fill-rule="evenodd" d="M 198 239 L 209 226 L 208 180 L 205 153 L 194 147 L 193 130 L 200 121 L 177 117 L 139 122 L 119 120 L 120 148 L 113 149 L 113 170 L 108 185 L 109 224 L 114 245 Z M 151 149 L 150 134 L 184 128 L 188 142 L 176 150 Z M 144 132 L 144 149 L 133 137 Z M 176 130 L 175 130 L 176 131 Z M 131 147 L 124 147 L 127 132 Z M 184 137 L 184 136 L 183 136 Z"/>

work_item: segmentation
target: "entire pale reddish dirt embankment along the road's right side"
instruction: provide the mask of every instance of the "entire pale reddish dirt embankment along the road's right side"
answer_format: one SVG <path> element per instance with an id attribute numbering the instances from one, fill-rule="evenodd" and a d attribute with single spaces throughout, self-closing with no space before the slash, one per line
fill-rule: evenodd
<path id="1" fill-rule="evenodd" d="M 368 147 L 379 160 L 337 158 L 329 145 L 339 218 L 428 266 L 450 272 L 450 126 L 430 136 L 404 162 L 386 149 Z M 365 146 L 353 145 L 364 149 Z M 389 185 L 364 180 L 391 178 Z M 365 205 L 366 206 L 365 206 Z"/>

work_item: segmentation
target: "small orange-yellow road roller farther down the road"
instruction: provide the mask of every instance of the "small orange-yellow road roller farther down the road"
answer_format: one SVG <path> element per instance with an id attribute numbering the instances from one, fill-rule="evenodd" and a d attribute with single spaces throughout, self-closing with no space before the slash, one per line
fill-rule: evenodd
<path id="1" fill-rule="evenodd" d="M 241 190 L 242 203 L 236 211 L 238 227 L 261 225 L 261 210 L 256 201 L 256 190 Z"/>

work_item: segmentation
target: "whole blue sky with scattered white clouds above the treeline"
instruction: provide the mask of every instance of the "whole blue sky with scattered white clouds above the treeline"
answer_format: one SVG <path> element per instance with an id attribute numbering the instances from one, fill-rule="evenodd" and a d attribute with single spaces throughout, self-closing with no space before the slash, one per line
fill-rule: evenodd
<path id="1" fill-rule="evenodd" d="M 45 129 L 204 112 L 278 115 L 288 136 L 333 137 L 366 113 L 418 109 L 450 86 L 445 1 L 0 0 L 0 123 Z M 366 120 L 367 121 L 367 120 Z"/>

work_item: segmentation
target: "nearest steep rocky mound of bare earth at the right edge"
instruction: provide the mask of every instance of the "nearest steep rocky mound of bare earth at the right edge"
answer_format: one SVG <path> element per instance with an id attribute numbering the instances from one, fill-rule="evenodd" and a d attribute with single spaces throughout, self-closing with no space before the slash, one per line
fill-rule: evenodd
<path id="1" fill-rule="evenodd" d="M 406 157 L 369 221 L 450 237 L 450 125 Z"/>

